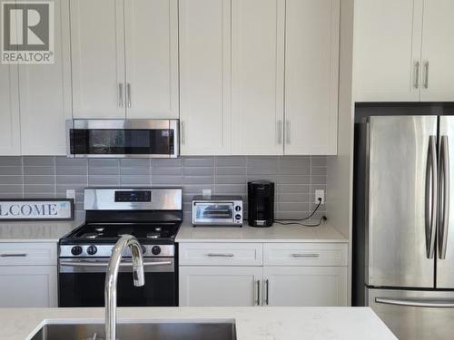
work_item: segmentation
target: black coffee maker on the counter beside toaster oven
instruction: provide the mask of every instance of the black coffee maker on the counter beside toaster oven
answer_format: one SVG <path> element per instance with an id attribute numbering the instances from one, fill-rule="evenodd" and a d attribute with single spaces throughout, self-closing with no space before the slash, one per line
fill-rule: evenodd
<path id="1" fill-rule="evenodd" d="M 274 221 L 274 183 L 248 182 L 248 222 L 251 227 L 271 227 Z"/>

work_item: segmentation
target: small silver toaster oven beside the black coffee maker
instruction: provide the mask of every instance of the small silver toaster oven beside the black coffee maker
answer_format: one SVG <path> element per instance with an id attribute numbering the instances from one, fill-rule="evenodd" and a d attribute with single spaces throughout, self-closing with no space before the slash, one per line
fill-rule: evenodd
<path id="1" fill-rule="evenodd" d="M 192 225 L 242 227 L 242 197 L 194 196 Z"/>

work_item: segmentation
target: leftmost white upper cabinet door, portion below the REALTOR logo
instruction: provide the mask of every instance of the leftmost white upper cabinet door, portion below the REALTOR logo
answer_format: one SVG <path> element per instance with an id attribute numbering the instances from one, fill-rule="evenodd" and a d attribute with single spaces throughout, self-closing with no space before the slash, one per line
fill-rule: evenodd
<path id="1" fill-rule="evenodd" d="M 17 66 L 0 63 L 0 156 L 21 154 Z"/>

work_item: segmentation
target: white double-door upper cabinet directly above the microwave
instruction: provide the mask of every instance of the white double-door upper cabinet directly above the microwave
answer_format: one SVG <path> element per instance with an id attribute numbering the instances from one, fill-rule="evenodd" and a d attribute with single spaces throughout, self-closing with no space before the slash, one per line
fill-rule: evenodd
<path id="1" fill-rule="evenodd" d="M 178 118 L 177 8 L 71 0 L 74 118 Z"/>

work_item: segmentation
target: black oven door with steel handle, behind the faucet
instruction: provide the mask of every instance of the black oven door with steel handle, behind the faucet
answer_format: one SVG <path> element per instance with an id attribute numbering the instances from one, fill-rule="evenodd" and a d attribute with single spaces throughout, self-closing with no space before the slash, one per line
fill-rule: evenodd
<path id="1" fill-rule="evenodd" d="M 108 257 L 60 258 L 58 306 L 104 306 Z M 131 258 L 122 261 L 117 281 L 118 306 L 177 306 L 173 257 L 143 259 L 145 285 L 133 286 Z"/>

